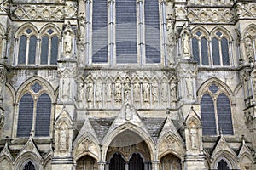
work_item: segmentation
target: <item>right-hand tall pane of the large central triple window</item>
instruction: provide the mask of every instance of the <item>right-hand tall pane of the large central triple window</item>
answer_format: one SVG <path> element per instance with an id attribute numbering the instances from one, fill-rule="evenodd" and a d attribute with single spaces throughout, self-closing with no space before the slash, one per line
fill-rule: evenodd
<path id="1" fill-rule="evenodd" d="M 160 63 L 159 1 L 144 2 L 146 63 Z"/>

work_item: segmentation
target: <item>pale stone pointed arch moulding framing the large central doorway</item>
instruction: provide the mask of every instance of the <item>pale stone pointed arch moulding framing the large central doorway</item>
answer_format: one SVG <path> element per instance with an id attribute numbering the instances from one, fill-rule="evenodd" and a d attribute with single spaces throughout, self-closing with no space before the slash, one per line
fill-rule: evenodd
<path id="1" fill-rule="evenodd" d="M 111 142 L 113 141 L 113 139 L 115 139 L 115 137 L 117 137 L 119 134 L 125 132 L 126 130 L 131 130 L 133 133 L 136 133 L 139 137 L 141 137 L 143 139 L 143 141 L 148 146 L 148 151 L 150 152 L 150 157 L 153 160 L 154 159 L 154 152 L 153 152 L 154 141 L 153 141 L 153 139 L 151 139 L 147 130 L 145 130 L 143 127 L 138 127 L 131 123 L 126 123 L 119 127 L 115 127 L 114 130 L 110 127 L 110 129 L 108 130 L 108 133 L 102 140 L 102 144 L 104 144 L 104 146 L 102 146 L 102 160 L 105 160 L 107 158 L 108 147 L 111 144 Z"/>

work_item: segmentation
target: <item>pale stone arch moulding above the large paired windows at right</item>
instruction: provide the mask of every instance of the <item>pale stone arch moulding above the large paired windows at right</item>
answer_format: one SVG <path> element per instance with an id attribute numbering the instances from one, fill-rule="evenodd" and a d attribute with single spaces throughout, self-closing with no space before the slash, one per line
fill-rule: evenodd
<path id="1" fill-rule="evenodd" d="M 226 85 L 226 83 L 222 82 L 221 80 L 219 80 L 216 77 L 212 77 L 210 79 L 208 79 L 207 81 L 201 83 L 201 86 L 198 88 L 197 90 L 197 96 L 199 96 L 199 98 L 201 99 L 201 96 L 203 94 L 205 94 L 205 92 L 207 91 L 207 86 L 209 86 L 210 84 L 215 83 L 217 85 L 219 85 L 221 88 L 224 88 L 224 93 L 229 97 L 232 96 L 233 92 L 230 89 L 230 87 L 228 85 Z M 232 101 L 230 99 L 230 101 Z"/>

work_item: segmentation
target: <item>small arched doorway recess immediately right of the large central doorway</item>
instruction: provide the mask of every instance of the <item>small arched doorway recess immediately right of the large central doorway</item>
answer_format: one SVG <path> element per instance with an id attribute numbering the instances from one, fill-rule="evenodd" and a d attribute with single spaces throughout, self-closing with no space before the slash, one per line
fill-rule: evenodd
<path id="1" fill-rule="evenodd" d="M 160 160 L 160 170 L 172 169 L 172 170 L 181 170 L 181 160 L 172 154 L 168 154 L 161 158 Z"/>

